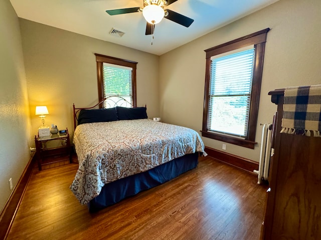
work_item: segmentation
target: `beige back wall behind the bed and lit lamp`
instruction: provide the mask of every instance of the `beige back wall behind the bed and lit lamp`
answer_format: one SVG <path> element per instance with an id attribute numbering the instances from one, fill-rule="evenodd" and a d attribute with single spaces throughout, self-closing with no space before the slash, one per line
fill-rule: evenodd
<path id="1" fill-rule="evenodd" d="M 159 115 L 158 56 L 26 19 L 20 24 L 33 134 L 41 124 L 36 105 L 47 105 L 48 125 L 68 127 L 72 134 L 72 104 L 98 101 L 94 53 L 138 62 L 137 105 L 147 105 L 149 118 Z"/>

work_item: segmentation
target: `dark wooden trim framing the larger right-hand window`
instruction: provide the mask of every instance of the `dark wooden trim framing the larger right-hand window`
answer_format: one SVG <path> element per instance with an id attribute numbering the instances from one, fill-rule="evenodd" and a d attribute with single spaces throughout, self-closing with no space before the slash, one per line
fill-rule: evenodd
<path id="1" fill-rule="evenodd" d="M 203 107 L 203 126 L 202 136 L 213 138 L 220 141 L 229 142 L 239 146 L 244 146 L 254 149 L 257 115 L 259 107 L 260 89 L 263 71 L 264 49 L 266 42 L 266 35 L 270 28 L 266 28 L 252 34 L 237 38 L 235 40 L 220 44 L 215 47 L 204 50 L 206 52 L 206 72 L 205 72 L 205 94 L 204 94 L 204 107 Z M 255 59 L 253 70 L 253 82 L 251 90 L 250 114 L 248 132 L 245 139 L 223 135 L 215 132 L 208 131 L 207 129 L 207 116 L 209 104 L 209 88 L 210 88 L 210 68 L 211 57 L 231 50 L 239 49 L 244 46 L 253 44 L 255 46 Z"/>

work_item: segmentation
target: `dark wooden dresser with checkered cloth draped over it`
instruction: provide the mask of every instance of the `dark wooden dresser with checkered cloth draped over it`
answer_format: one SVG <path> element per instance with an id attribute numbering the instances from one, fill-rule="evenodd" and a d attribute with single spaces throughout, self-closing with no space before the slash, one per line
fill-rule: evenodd
<path id="1" fill-rule="evenodd" d="M 261 239 L 321 239 L 321 137 L 280 133 L 284 89 L 269 95 L 277 112 Z"/>

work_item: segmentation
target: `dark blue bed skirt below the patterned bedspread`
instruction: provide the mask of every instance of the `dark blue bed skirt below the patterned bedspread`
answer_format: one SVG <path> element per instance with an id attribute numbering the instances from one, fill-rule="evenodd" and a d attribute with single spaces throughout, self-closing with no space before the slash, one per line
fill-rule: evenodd
<path id="1" fill-rule="evenodd" d="M 198 152 L 187 154 L 148 171 L 127 176 L 104 185 L 100 194 L 88 203 L 89 211 L 98 211 L 125 197 L 167 182 L 195 168 L 198 164 L 198 155 Z"/>

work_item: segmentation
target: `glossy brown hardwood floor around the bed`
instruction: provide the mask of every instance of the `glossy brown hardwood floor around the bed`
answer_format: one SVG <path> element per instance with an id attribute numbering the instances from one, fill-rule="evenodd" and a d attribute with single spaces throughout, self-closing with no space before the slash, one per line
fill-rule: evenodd
<path id="1" fill-rule="evenodd" d="M 96 213 L 69 189 L 77 167 L 34 169 L 7 239 L 259 239 L 266 186 L 211 157 Z"/>

